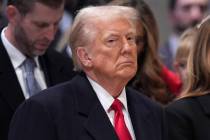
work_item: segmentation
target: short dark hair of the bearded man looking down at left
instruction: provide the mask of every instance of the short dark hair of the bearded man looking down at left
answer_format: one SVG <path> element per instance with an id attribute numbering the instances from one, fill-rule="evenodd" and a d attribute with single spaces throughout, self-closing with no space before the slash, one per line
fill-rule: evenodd
<path id="1" fill-rule="evenodd" d="M 14 5 L 21 14 L 25 15 L 31 11 L 36 2 L 57 9 L 65 3 L 65 0 L 9 0 L 8 5 Z"/>

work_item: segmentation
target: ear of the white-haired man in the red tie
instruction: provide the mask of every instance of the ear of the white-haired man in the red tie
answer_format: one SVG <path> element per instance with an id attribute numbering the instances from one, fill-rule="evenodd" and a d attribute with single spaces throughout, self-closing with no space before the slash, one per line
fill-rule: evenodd
<path id="1" fill-rule="evenodd" d="M 92 59 L 89 56 L 89 53 L 87 51 L 87 48 L 85 47 L 78 47 L 76 49 L 77 57 L 79 58 L 80 63 L 86 67 L 91 68 L 92 67 Z"/>

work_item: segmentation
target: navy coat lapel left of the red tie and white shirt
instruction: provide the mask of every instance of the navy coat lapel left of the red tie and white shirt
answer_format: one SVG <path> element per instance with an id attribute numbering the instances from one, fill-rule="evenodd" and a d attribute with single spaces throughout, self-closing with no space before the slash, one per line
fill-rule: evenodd
<path id="1" fill-rule="evenodd" d="M 76 88 L 78 113 L 80 117 L 86 117 L 84 125 L 89 134 L 95 139 L 118 140 L 106 112 L 84 75 L 78 79 Z"/>

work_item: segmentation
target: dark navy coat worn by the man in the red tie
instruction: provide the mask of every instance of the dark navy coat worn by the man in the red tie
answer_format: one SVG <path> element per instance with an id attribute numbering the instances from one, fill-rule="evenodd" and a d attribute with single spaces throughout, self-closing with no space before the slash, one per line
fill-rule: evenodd
<path id="1" fill-rule="evenodd" d="M 163 139 L 163 112 L 126 89 L 137 140 Z M 9 140 L 117 140 L 114 128 L 84 74 L 26 100 L 14 115 Z"/>

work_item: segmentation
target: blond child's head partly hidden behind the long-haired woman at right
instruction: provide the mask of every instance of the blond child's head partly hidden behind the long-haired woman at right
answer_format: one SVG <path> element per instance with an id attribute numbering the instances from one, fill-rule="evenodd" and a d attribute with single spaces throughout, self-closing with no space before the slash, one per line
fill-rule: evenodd
<path id="1" fill-rule="evenodd" d="M 180 37 L 179 46 L 174 61 L 175 71 L 182 80 L 182 89 L 186 86 L 187 60 L 196 39 L 196 28 L 189 28 Z M 181 92 L 181 91 L 180 91 Z"/>

